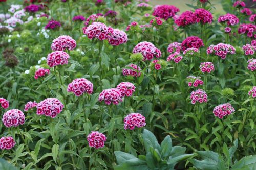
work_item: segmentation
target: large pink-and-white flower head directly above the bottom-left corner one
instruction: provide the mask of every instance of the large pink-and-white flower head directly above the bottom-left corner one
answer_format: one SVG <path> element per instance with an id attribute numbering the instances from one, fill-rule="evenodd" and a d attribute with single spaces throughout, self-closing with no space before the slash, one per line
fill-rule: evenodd
<path id="1" fill-rule="evenodd" d="M 25 115 L 21 110 L 11 109 L 5 112 L 2 121 L 7 128 L 17 127 L 25 122 Z"/>

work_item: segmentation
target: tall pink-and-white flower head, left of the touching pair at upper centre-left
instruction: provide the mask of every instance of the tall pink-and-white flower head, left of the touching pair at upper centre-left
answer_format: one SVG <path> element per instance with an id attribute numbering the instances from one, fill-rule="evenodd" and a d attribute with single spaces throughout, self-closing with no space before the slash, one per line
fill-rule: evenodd
<path id="1" fill-rule="evenodd" d="M 113 29 L 109 29 L 101 22 L 93 22 L 87 28 L 83 28 L 83 34 L 86 34 L 89 39 L 105 40 L 109 38 L 110 33 L 113 33 Z"/>

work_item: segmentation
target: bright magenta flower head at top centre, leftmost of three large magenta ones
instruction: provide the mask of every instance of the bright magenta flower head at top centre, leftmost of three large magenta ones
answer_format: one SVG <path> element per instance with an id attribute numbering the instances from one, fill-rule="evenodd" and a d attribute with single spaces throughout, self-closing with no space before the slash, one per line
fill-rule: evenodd
<path id="1" fill-rule="evenodd" d="M 157 5 L 154 8 L 153 15 L 162 19 L 172 18 L 180 9 L 173 5 Z"/>

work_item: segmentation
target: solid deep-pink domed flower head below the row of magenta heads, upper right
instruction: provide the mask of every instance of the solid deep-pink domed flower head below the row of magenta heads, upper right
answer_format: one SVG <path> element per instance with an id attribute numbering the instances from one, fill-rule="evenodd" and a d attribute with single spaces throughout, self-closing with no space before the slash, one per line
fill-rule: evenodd
<path id="1" fill-rule="evenodd" d="M 181 48 L 185 51 L 187 48 L 197 48 L 204 46 L 202 39 L 196 36 L 187 37 L 181 43 Z"/>

